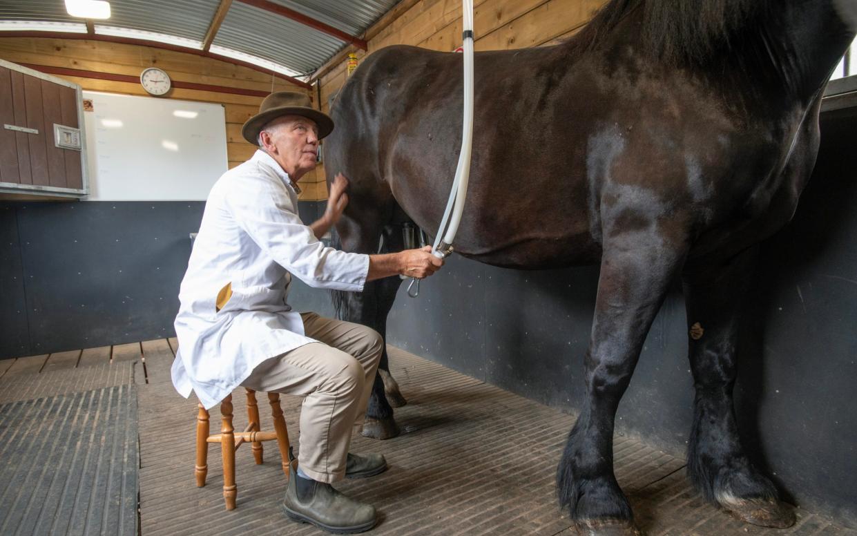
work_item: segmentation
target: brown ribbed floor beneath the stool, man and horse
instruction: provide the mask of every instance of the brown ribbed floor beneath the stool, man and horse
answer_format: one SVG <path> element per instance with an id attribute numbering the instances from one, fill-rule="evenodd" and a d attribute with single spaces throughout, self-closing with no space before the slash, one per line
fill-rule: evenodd
<path id="1" fill-rule="evenodd" d="M 54 354 L 58 357 L 54 362 L 54 356 L 3 361 L 0 404 L 10 397 L 23 400 L 21 396 L 57 394 L 48 391 L 97 388 L 94 380 L 63 382 L 62 371 L 81 369 L 75 373 L 89 378 L 94 376 L 82 370 L 88 366 L 131 362 L 135 373 L 126 382 L 134 384 L 138 402 L 142 534 L 323 534 L 283 515 L 285 479 L 273 443 L 265 443 L 261 466 L 255 465 L 249 447 L 238 450 L 237 509 L 224 508 L 219 445 L 209 447 L 207 485 L 195 486 L 196 400 L 193 396 L 185 400 L 172 388 L 169 369 L 175 347 L 175 340 L 153 340 L 79 351 L 76 357 L 63 352 Z M 375 504 L 381 522 L 371 534 L 572 534 L 554 491 L 556 462 L 572 416 L 393 347 L 390 358 L 393 376 L 408 399 L 407 406 L 396 410 L 403 433 L 384 442 L 356 435 L 351 446 L 354 452 L 383 453 L 390 468 L 371 479 L 337 485 L 352 497 Z M 110 385 L 128 376 L 103 372 Z M 291 443 L 297 449 L 300 400 L 282 398 Z M 233 401 L 235 427 L 243 429 L 243 389 L 236 391 Z M 264 396 L 259 407 L 262 429 L 272 430 Z M 214 409 L 213 431 L 218 415 Z M 626 437 L 616 437 L 614 459 L 638 525 L 650 536 L 857 535 L 804 510 L 798 511 L 797 525 L 785 531 L 735 521 L 691 490 L 683 460 Z"/>

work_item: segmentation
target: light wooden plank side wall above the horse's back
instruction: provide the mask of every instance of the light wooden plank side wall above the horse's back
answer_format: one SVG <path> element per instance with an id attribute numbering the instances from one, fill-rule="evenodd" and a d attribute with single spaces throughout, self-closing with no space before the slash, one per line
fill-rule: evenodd
<path id="1" fill-rule="evenodd" d="M 475 0 L 476 51 L 554 45 L 583 27 L 604 3 L 606 0 Z M 460 0 L 420 0 L 369 39 L 369 51 L 357 51 L 357 57 L 362 60 L 388 45 L 453 51 L 461 45 Z M 330 94 L 342 87 L 345 75 L 343 61 L 319 79 L 323 111 L 328 111 Z M 324 189 L 317 195 L 326 198 L 323 166 L 316 172 L 321 179 L 319 188 Z"/>

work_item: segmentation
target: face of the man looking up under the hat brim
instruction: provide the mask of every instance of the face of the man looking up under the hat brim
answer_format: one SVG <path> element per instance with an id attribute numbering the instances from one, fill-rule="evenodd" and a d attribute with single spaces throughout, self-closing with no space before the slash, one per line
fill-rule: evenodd
<path id="1" fill-rule="evenodd" d="M 261 136 L 268 154 L 277 160 L 291 180 L 297 182 L 304 173 L 315 168 L 318 133 L 318 126 L 312 119 L 284 116 L 268 123 Z"/>

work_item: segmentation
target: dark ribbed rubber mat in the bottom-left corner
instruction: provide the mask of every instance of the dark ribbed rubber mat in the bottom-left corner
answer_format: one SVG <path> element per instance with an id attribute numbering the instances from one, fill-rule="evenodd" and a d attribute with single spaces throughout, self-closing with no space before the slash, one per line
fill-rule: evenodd
<path id="1" fill-rule="evenodd" d="M 137 533 L 134 385 L 0 405 L 0 534 Z"/>

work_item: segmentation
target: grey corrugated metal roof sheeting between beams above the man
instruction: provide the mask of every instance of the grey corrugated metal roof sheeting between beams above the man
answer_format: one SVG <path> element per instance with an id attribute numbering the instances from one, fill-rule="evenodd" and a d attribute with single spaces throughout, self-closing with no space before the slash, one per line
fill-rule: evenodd
<path id="1" fill-rule="evenodd" d="M 271 1 L 355 36 L 365 32 L 399 2 Z M 111 18 L 94 21 L 96 33 L 99 33 L 99 27 L 118 27 L 191 39 L 199 43 L 205 38 L 219 3 L 219 0 L 111 0 Z M 2 0 L 0 21 L 83 22 L 68 15 L 63 0 Z M 158 39 L 151 34 L 135 37 Z M 193 46 L 192 43 L 190 45 Z M 233 0 L 213 45 L 309 74 L 341 50 L 345 41 L 285 16 L 255 8 L 241 0 Z"/>

